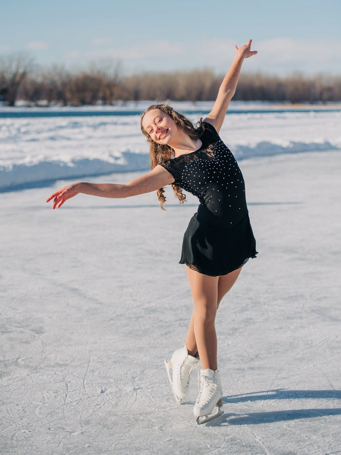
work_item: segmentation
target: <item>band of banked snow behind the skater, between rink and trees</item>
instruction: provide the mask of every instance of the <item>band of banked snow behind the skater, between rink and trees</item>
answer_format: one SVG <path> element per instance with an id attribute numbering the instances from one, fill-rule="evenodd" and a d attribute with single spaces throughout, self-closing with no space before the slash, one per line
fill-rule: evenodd
<path id="1" fill-rule="evenodd" d="M 0 117 L 0 191 L 57 178 L 147 170 L 148 144 L 138 114 L 145 107 L 140 103 L 100 111 L 0 109 L 0 115 L 60 116 Z M 175 107 L 192 112 L 189 117 L 196 121 L 211 103 Z M 284 108 L 232 103 L 221 137 L 238 159 L 341 149 L 341 108 Z"/>

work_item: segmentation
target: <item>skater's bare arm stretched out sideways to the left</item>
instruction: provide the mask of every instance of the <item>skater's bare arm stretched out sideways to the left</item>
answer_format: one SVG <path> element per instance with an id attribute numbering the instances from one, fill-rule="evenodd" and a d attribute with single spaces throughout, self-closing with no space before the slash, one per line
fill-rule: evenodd
<path id="1" fill-rule="evenodd" d="M 67 199 L 73 198 L 79 193 L 101 198 L 128 198 L 143 193 L 150 193 L 170 183 L 174 177 L 162 166 L 157 165 L 151 172 L 141 177 L 134 178 L 123 185 L 116 183 L 86 183 L 77 182 L 60 188 L 53 193 L 46 202 L 53 199 L 52 208 L 61 207 Z"/>

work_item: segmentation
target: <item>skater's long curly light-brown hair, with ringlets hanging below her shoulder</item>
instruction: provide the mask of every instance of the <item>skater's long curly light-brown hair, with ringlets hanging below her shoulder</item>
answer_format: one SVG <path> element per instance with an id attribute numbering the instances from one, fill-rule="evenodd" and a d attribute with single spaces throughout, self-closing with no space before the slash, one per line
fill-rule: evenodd
<path id="1" fill-rule="evenodd" d="M 194 125 L 189 119 L 187 119 L 184 115 L 180 114 L 179 112 L 174 111 L 172 107 L 168 104 L 152 104 L 149 106 L 146 111 L 141 116 L 141 131 L 146 136 L 147 141 L 149 142 L 149 149 L 150 149 L 150 158 L 151 158 L 151 168 L 154 169 L 160 163 L 167 161 L 170 158 L 174 158 L 174 149 L 167 144 L 158 144 L 147 133 L 147 131 L 142 126 L 142 120 L 147 114 L 147 112 L 151 111 L 152 109 L 159 109 L 160 111 L 164 112 L 165 114 L 169 115 L 172 118 L 177 126 L 184 131 L 191 139 L 199 139 L 204 133 L 204 125 L 203 120 L 200 119 L 198 122 L 198 126 Z M 174 195 L 176 198 L 179 199 L 180 203 L 184 203 L 186 201 L 186 195 L 183 194 L 182 189 L 174 185 L 172 183 L 172 188 L 174 191 Z M 159 188 L 157 190 L 157 198 L 160 201 L 160 207 L 162 210 L 166 210 L 163 207 L 163 204 L 166 202 L 166 197 L 164 196 L 164 188 Z"/>

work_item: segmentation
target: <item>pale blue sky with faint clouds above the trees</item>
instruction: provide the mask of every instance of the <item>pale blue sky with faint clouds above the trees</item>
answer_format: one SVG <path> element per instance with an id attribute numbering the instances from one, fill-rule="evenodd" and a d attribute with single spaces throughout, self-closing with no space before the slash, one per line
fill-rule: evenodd
<path id="1" fill-rule="evenodd" d="M 1 5 L 0 55 L 124 73 L 212 68 L 253 40 L 248 71 L 341 74 L 340 0 L 12 0 Z"/>

